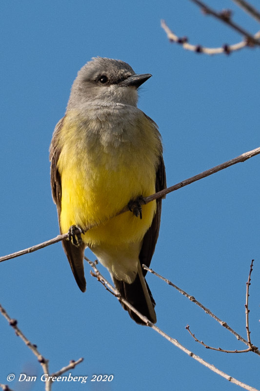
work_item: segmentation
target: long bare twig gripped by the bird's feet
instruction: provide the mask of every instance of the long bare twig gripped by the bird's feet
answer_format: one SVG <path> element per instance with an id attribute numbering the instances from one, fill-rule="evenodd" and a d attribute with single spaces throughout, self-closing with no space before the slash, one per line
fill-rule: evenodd
<path id="1" fill-rule="evenodd" d="M 235 157 L 235 158 L 233 158 L 231 160 L 228 160 L 228 161 L 226 161 L 224 163 L 221 163 L 218 166 L 215 166 L 215 167 L 213 167 L 213 168 L 211 168 L 209 170 L 203 171 L 202 173 L 197 174 L 195 176 L 192 176 L 191 178 L 185 179 L 185 180 L 177 183 L 174 186 L 168 187 L 167 189 L 161 190 L 158 193 L 155 193 L 153 195 L 149 195 L 148 197 L 143 198 L 143 203 L 147 204 L 148 202 L 151 202 L 154 199 L 164 197 L 165 195 L 167 195 L 167 194 L 169 194 L 171 192 L 174 192 L 176 190 L 179 190 L 180 188 L 182 188 L 184 186 L 190 185 L 191 183 L 196 182 L 197 180 L 200 180 L 200 179 L 205 178 L 205 177 L 207 177 L 209 175 L 215 174 L 218 171 L 221 171 L 221 170 L 226 169 L 227 167 L 233 166 L 234 164 L 244 162 L 245 160 L 250 159 L 251 157 L 258 155 L 259 153 L 260 153 L 260 148 L 256 148 L 256 149 L 254 149 L 252 151 L 248 151 L 248 152 L 242 153 L 241 155 L 239 155 L 239 156 L 237 156 L 237 157 Z M 127 211 L 129 212 L 129 208 L 128 208 L 128 206 L 125 206 L 121 211 L 116 213 L 115 216 L 111 216 L 110 218 L 119 216 L 120 214 L 125 213 Z M 87 232 L 89 229 L 94 228 L 95 226 L 97 226 L 97 224 L 89 225 L 89 227 L 86 228 L 84 230 L 84 232 Z M 58 241 L 60 241 L 62 239 L 67 239 L 68 237 L 69 237 L 68 234 L 58 235 L 56 238 L 47 240 L 47 241 L 45 241 L 43 243 L 40 243 L 40 244 L 37 244 L 35 246 L 26 248 L 24 250 L 17 251 L 15 253 L 12 253 L 12 254 L 9 254 L 9 255 L 5 255 L 3 257 L 0 257 L 0 262 L 7 261 L 7 260 L 19 257 L 19 256 L 24 255 L 24 254 L 32 253 L 34 251 L 39 250 L 40 248 L 44 248 L 44 247 L 49 246 L 49 245 L 51 245 L 53 243 L 57 243 Z"/>

